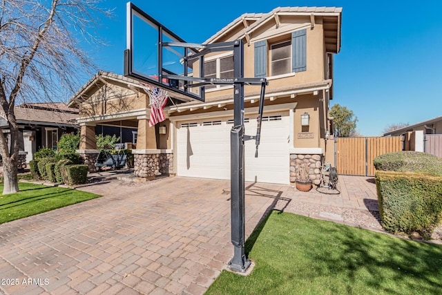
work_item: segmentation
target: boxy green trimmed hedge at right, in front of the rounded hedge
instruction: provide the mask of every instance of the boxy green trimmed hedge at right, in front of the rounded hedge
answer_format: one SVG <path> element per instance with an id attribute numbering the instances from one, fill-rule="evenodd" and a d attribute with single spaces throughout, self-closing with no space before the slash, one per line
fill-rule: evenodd
<path id="1" fill-rule="evenodd" d="M 381 224 L 387 231 L 431 236 L 442 218 L 442 177 L 376 171 Z"/>

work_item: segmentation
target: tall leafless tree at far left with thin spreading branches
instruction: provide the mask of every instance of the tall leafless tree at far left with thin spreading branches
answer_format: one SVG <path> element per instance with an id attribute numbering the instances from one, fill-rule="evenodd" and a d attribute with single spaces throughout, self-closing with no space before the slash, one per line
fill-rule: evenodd
<path id="1" fill-rule="evenodd" d="M 19 126 L 14 106 L 68 97 L 97 70 L 84 44 L 102 43 L 90 33 L 111 12 L 99 0 L 3 0 L 0 5 L 0 111 L 10 142 L 0 132 L 3 194 L 19 191 Z M 83 46 L 81 46 L 83 45 Z"/>

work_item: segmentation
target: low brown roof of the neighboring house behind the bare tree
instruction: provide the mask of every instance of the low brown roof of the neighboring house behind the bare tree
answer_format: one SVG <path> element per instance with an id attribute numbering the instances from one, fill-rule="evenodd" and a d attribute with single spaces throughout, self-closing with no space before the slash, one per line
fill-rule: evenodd
<path id="1" fill-rule="evenodd" d="M 21 106 L 15 106 L 14 112 L 17 123 L 20 125 L 78 126 L 77 113 L 47 111 L 35 108 L 23 108 Z M 8 126 L 6 114 L 3 111 L 0 111 L 0 126 Z"/>

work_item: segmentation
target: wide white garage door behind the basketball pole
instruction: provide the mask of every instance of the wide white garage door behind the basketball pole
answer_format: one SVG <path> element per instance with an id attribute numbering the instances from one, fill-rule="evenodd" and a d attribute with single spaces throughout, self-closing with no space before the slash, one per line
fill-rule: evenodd
<path id="1" fill-rule="evenodd" d="M 245 116 L 245 134 L 256 135 L 256 115 Z M 177 175 L 230 179 L 233 120 L 215 118 L 177 126 Z M 289 113 L 265 114 L 258 158 L 255 140 L 245 142 L 246 181 L 289 183 Z"/>

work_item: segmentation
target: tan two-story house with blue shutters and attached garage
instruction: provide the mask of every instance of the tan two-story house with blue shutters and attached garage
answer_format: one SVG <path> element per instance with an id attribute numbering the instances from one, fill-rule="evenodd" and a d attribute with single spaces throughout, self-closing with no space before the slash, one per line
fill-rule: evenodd
<path id="1" fill-rule="evenodd" d="M 319 184 L 320 167 L 334 157 L 333 55 L 340 50 L 341 8 L 276 8 L 244 14 L 206 40 L 244 41 L 244 77 L 267 77 L 259 157 L 246 143 L 246 181 L 289 184 L 296 166 L 309 162 Z M 204 77 L 233 77 L 233 57 L 211 53 Z M 193 66 L 198 76 L 198 66 Z M 244 90 L 245 132 L 256 133 L 260 89 Z M 195 178 L 230 178 L 233 86 L 206 86 L 205 102 L 166 106 L 166 121 L 148 126 L 148 99 L 136 79 L 100 72 L 70 100 L 81 108 L 80 151 L 86 162 L 97 154 L 95 126 L 118 121 L 137 126 L 135 175 L 173 173 Z M 92 168 L 92 166 L 91 166 Z"/>

